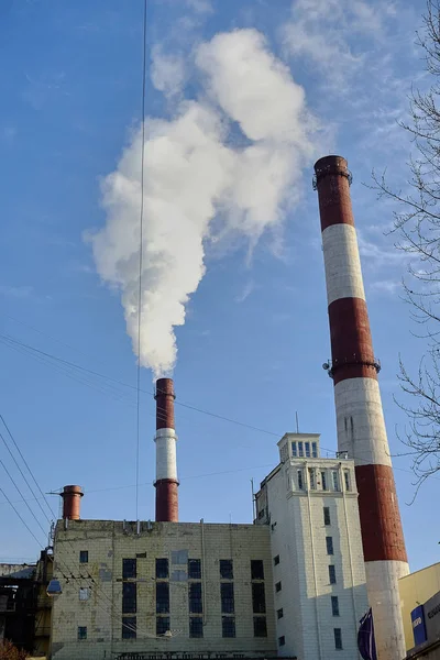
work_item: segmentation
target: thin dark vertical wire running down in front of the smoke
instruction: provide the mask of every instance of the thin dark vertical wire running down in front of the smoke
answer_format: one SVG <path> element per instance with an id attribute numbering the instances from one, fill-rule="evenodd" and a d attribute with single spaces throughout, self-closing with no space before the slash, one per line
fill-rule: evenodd
<path id="1" fill-rule="evenodd" d="M 145 169 L 145 85 L 146 85 L 146 0 L 144 0 L 142 44 L 142 144 L 141 144 L 141 208 L 139 219 L 139 292 L 138 292 L 138 371 L 136 371 L 136 520 L 139 519 L 139 448 L 141 442 L 141 332 L 142 332 L 142 270 L 144 240 L 144 169 Z"/>

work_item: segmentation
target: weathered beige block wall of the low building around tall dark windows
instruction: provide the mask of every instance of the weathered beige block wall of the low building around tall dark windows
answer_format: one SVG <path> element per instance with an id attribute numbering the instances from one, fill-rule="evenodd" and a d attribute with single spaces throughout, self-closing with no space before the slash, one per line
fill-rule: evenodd
<path id="1" fill-rule="evenodd" d="M 63 594 L 54 600 L 52 653 L 56 660 L 114 658 L 123 652 L 244 653 L 275 656 L 275 622 L 270 530 L 253 525 L 201 525 L 102 520 L 59 521 L 54 576 Z M 79 552 L 88 551 L 88 563 Z M 122 559 L 136 558 L 138 638 L 122 639 Z M 156 637 L 155 560 L 169 560 L 172 637 Z M 189 638 L 187 560 L 202 564 L 204 637 Z M 233 560 L 235 638 L 222 637 L 220 559 Z M 254 637 L 251 559 L 263 560 L 267 637 Z M 79 601 L 79 588 L 90 598 Z M 87 626 L 87 640 L 78 640 Z"/>

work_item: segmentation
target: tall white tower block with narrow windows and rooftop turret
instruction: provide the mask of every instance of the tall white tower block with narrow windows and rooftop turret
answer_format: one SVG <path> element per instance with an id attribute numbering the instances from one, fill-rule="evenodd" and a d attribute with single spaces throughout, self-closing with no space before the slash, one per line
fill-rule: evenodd
<path id="1" fill-rule="evenodd" d="M 359 658 L 369 609 L 353 461 L 322 459 L 319 436 L 286 433 L 256 494 L 274 563 L 278 654 Z"/>

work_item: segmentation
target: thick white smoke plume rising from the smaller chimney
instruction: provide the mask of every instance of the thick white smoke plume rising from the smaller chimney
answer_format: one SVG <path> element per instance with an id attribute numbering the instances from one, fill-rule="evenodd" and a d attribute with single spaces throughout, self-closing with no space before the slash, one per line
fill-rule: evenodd
<path id="1" fill-rule="evenodd" d="M 299 197 L 314 151 L 304 90 L 261 33 L 218 34 L 199 46 L 196 67 L 204 81 L 199 100 L 182 101 L 170 121 L 145 124 L 140 360 L 154 377 L 175 365 L 174 329 L 185 323 L 204 277 L 213 220 L 255 243 Z M 231 140 L 237 124 L 242 146 Z M 136 354 L 141 150 L 139 130 L 105 179 L 107 222 L 91 238 L 101 278 L 121 292 Z"/>

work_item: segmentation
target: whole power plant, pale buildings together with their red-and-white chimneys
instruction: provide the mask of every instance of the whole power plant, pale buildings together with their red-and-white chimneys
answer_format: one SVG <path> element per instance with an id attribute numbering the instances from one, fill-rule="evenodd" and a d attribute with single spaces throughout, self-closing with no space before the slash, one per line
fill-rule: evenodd
<path id="1" fill-rule="evenodd" d="M 81 488 L 62 493 L 52 659 L 355 660 L 370 610 L 378 660 L 404 659 L 399 580 L 408 564 L 350 185 L 344 158 L 316 163 L 334 458 L 320 457 L 318 435 L 288 432 L 252 525 L 180 522 L 174 383 L 160 378 L 155 520 L 82 520 Z"/>

